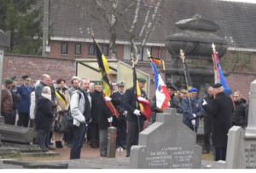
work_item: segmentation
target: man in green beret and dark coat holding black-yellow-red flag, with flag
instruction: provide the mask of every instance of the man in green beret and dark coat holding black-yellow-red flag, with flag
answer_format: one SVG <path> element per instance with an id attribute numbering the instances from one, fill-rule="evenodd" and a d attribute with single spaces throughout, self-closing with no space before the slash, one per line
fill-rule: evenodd
<path id="1" fill-rule="evenodd" d="M 144 121 L 150 118 L 151 109 L 146 92 L 143 90 L 145 78 L 137 78 L 134 59 L 131 54 L 133 68 L 133 86 L 125 91 L 124 106 L 127 110 L 128 135 L 126 157 L 130 157 L 131 146 L 138 145 L 139 133 L 143 130 Z"/>

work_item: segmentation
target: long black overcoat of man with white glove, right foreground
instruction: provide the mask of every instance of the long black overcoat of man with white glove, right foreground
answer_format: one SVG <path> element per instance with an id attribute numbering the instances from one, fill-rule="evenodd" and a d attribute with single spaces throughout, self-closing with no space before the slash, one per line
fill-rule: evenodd
<path id="1" fill-rule="evenodd" d="M 220 92 L 210 105 L 207 104 L 203 108 L 212 116 L 212 146 L 227 147 L 231 116 L 234 112 L 230 96 Z"/>

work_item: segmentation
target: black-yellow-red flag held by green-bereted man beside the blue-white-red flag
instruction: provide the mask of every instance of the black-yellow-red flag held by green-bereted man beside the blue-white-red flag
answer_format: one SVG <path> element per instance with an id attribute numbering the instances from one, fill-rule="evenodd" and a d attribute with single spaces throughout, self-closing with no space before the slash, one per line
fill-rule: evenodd
<path id="1" fill-rule="evenodd" d="M 134 66 L 132 67 L 132 69 L 133 69 L 133 89 L 134 89 L 134 94 L 137 95 L 137 108 L 149 120 L 151 116 L 150 103 L 147 99 L 141 96 L 141 89 L 138 84 L 136 69 Z"/>

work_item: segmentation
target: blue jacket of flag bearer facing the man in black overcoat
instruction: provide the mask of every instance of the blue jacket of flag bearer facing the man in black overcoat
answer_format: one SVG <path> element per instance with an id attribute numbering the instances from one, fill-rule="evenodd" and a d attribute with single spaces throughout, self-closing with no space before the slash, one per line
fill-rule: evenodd
<path id="1" fill-rule="evenodd" d="M 191 99 L 190 99 L 191 100 Z M 183 108 L 183 124 L 186 124 L 189 127 L 193 127 L 191 120 L 195 119 L 195 127 L 198 127 L 199 118 L 203 117 L 204 111 L 201 107 L 201 101 L 198 98 L 191 100 L 192 112 L 195 113 L 196 117 L 194 118 L 193 114 L 190 111 L 189 107 L 189 97 L 185 97 L 182 101 Z"/>

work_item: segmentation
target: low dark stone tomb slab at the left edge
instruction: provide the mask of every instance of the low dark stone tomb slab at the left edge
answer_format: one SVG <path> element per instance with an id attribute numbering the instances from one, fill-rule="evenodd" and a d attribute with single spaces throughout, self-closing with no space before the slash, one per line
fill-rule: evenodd
<path id="1" fill-rule="evenodd" d="M 29 144 L 33 139 L 32 129 L 9 124 L 0 124 L 0 134 L 2 141 Z"/>

